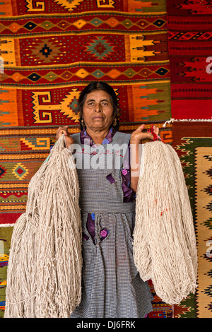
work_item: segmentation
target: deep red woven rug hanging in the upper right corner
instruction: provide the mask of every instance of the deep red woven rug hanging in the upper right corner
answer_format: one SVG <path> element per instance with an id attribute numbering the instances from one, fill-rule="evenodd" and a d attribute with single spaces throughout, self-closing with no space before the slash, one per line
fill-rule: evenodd
<path id="1" fill-rule="evenodd" d="M 211 119 L 211 0 L 167 1 L 172 118 Z"/>

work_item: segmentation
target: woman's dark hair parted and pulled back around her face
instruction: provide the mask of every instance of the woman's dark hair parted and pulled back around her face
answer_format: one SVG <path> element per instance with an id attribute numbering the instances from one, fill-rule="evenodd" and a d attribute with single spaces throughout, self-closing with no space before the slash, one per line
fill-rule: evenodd
<path id="1" fill-rule="evenodd" d="M 81 126 L 81 130 L 83 130 L 83 126 L 81 124 L 81 120 L 83 119 L 83 105 L 84 102 L 86 101 L 86 97 L 88 95 L 88 93 L 92 93 L 95 90 L 103 90 L 106 93 L 108 93 L 110 95 L 111 101 L 112 101 L 112 106 L 113 106 L 113 114 L 114 114 L 114 118 L 117 119 L 117 124 L 115 126 L 113 126 L 113 128 L 115 130 L 119 130 L 119 107 L 118 107 L 118 101 L 117 101 L 117 95 L 114 92 L 113 88 L 105 83 L 105 82 L 91 82 L 90 84 L 88 84 L 86 86 L 86 88 L 84 88 L 78 98 L 78 109 L 80 112 L 80 126 Z"/>

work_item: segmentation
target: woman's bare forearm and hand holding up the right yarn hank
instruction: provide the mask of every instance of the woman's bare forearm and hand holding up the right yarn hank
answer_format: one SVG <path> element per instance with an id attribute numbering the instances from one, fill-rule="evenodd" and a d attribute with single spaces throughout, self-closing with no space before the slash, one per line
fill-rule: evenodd
<path id="1" fill-rule="evenodd" d="M 143 133 L 145 124 L 139 126 L 132 134 L 130 138 L 130 150 L 131 150 L 131 189 L 136 192 L 138 182 L 139 182 L 139 173 L 140 173 L 140 162 L 141 162 L 141 149 L 139 145 L 141 141 L 150 139 L 153 140 L 153 134 Z M 156 135 L 159 134 L 159 128 L 153 126 L 153 133 Z"/>

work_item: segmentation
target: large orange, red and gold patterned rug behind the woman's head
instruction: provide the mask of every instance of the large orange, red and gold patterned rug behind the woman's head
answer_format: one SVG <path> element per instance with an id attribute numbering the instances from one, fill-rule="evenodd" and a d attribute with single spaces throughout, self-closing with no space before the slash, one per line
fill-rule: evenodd
<path id="1" fill-rule="evenodd" d="M 78 124 L 78 94 L 97 80 L 117 91 L 122 122 L 170 118 L 164 0 L 10 1 L 0 24 L 2 125 Z"/>

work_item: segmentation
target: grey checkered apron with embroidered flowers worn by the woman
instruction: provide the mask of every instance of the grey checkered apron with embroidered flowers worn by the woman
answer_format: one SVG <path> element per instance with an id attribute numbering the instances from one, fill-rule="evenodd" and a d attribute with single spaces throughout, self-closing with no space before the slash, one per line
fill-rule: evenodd
<path id="1" fill-rule="evenodd" d="M 80 144 L 79 134 L 72 137 Z M 129 138 L 129 134 L 117 132 L 110 144 L 128 145 Z M 104 151 L 107 156 L 107 145 Z M 77 172 L 84 234 L 82 298 L 71 318 L 142 318 L 153 310 L 148 283 L 141 280 L 134 265 L 135 202 L 123 203 L 123 158 L 116 169 L 116 153 L 112 154 L 112 168 L 95 170 L 86 165 L 88 154 L 81 153 L 83 167 Z M 90 162 L 96 157 L 90 153 Z M 114 182 L 107 179 L 109 174 Z M 88 232 L 88 213 L 94 216 L 95 237 Z"/>

